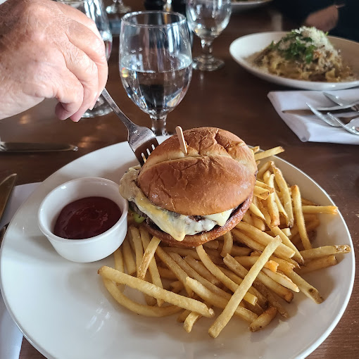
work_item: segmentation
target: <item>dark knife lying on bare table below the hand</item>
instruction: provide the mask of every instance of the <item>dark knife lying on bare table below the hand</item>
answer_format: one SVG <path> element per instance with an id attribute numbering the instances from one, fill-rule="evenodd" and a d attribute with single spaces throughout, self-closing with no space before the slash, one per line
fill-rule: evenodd
<path id="1" fill-rule="evenodd" d="M 51 144 L 36 142 L 4 142 L 0 141 L 0 152 L 50 152 L 50 151 L 77 151 L 72 144 Z"/>

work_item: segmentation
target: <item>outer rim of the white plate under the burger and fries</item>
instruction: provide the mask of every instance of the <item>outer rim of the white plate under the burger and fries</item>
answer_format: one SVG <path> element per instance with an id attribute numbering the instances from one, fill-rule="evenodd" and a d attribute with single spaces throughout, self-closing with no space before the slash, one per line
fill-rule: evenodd
<path id="1" fill-rule="evenodd" d="M 160 141 L 163 141 L 163 139 L 160 139 Z M 160 142 L 159 141 L 159 142 Z M 121 144 L 125 144 L 125 142 L 120 142 L 119 144 L 114 144 L 114 145 L 111 145 L 111 146 L 108 146 L 108 147 L 105 147 L 103 149 L 99 149 L 99 150 L 96 150 L 92 153 L 87 153 L 87 155 L 84 155 L 80 158 L 77 158 L 76 160 L 73 160 L 71 163 L 68 163 L 68 165 L 71 165 L 73 163 L 76 163 L 77 161 L 81 161 L 83 158 L 89 158 L 93 155 L 93 153 L 99 153 L 100 151 L 109 151 L 111 149 L 115 149 L 115 146 L 118 146 L 118 145 L 121 145 Z M 315 180 L 313 180 L 311 177 L 309 177 L 308 175 L 306 175 L 305 172 L 303 172 L 302 170 L 300 170 L 299 168 L 297 168 L 295 165 L 292 165 L 291 163 L 289 163 L 287 160 L 284 160 L 280 157 L 277 157 L 277 156 L 273 156 L 275 159 L 279 160 L 279 162 L 283 162 L 285 163 L 285 165 L 288 165 L 290 168 L 293 168 L 294 170 L 296 170 L 296 172 L 299 172 L 301 173 L 301 175 L 303 175 L 303 177 L 306 177 L 306 180 L 310 180 L 310 182 L 313 182 L 313 184 L 315 184 L 316 187 L 318 187 L 318 189 L 320 189 L 320 191 L 322 191 L 322 194 L 325 194 L 325 196 L 327 196 L 327 199 L 330 203 L 332 203 L 332 205 L 334 205 L 334 201 L 332 201 L 332 199 L 329 197 L 329 195 L 327 194 L 327 192 L 322 189 L 322 187 L 320 187 L 319 184 L 317 184 L 317 182 L 315 182 Z M 134 158 L 130 158 L 129 161 L 127 162 L 132 162 L 134 163 L 135 162 L 135 159 Z M 30 195 L 30 197 L 27 199 L 27 201 L 25 201 L 25 203 L 23 203 L 22 206 L 20 206 L 20 208 L 18 209 L 18 211 L 15 213 L 14 217 L 13 218 L 16 218 L 17 216 L 17 213 L 21 210 L 21 208 L 25 207 L 25 206 L 28 206 L 29 203 L 31 203 L 32 199 L 36 198 L 37 197 L 37 194 L 39 193 L 39 191 L 41 191 L 42 187 L 44 186 L 44 184 L 48 184 L 49 182 L 51 182 L 51 180 L 53 180 L 53 178 L 56 177 L 56 175 L 58 174 L 58 172 L 61 172 L 61 170 L 65 169 L 66 167 L 68 167 L 68 165 L 65 165 L 63 166 L 63 168 L 59 169 L 58 171 L 54 172 L 53 175 L 49 176 L 44 182 L 42 182 L 42 184 L 39 185 L 39 187 L 37 189 L 35 189 L 35 191 Z M 280 167 L 280 165 L 279 165 Z M 327 329 L 325 330 L 325 332 L 322 333 L 322 335 L 317 338 L 317 340 L 311 344 L 310 346 L 308 346 L 308 348 L 306 348 L 303 352 L 300 353 L 299 356 L 297 356 L 296 358 L 306 358 L 306 356 L 308 356 L 310 353 L 313 353 L 313 351 L 315 351 L 315 349 L 320 346 L 320 344 L 322 344 L 323 341 L 325 341 L 325 339 L 327 339 L 327 336 L 329 336 L 329 334 L 333 331 L 333 329 L 336 327 L 336 325 L 338 324 L 339 320 L 341 319 L 342 315 L 344 314 L 345 310 L 346 310 L 346 307 L 348 306 L 348 301 L 349 299 L 351 298 L 351 293 L 353 291 L 353 283 L 354 283 L 354 279 L 355 279 L 355 254 L 354 254 L 354 251 L 353 251 L 353 241 L 351 239 L 351 234 L 350 232 L 348 231 L 348 227 L 346 225 L 346 222 L 344 221 L 344 218 L 342 217 L 341 213 L 339 212 L 339 217 L 341 218 L 341 221 L 343 222 L 343 225 L 344 225 L 344 228 L 346 229 L 346 234 L 348 236 L 348 241 L 350 242 L 350 245 L 351 245 L 351 248 L 352 248 L 352 251 L 351 253 L 349 253 L 348 255 L 346 256 L 351 256 L 351 262 L 352 264 L 354 263 L 354 265 L 351 266 L 351 272 L 350 272 L 350 275 L 351 275 L 351 279 L 350 279 L 350 282 L 349 282 L 349 287 L 348 287 L 348 291 L 346 292 L 346 296 L 344 298 L 344 301 L 342 303 L 342 306 L 341 306 L 341 310 L 339 310 L 339 312 L 336 314 L 336 317 L 334 318 L 334 320 L 332 321 L 331 325 L 329 325 L 329 327 L 327 327 Z M 6 232 L 6 235 L 4 237 L 4 242 L 3 243 L 6 243 L 7 241 L 7 237 L 9 236 L 9 232 L 11 232 L 11 227 L 12 227 L 12 222 L 10 223 L 10 225 L 8 226 L 8 230 Z M 1 259 L 1 256 L 2 256 L 2 253 L 4 251 L 4 246 L 1 246 L 1 250 L 0 250 L 0 259 Z M 6 298 L 6 296 L 4 296 L 4 287 L 3 287 L 3 281 L 2 281 L 2 270 L 1 270 L 1 260 L 0 260 L 0 290 L 1 290 L 1 293 L 3 293 L 3 298 L 4 298 L 4 303 L 6 304 L 6 307 L 8 308 L 8 311 L 11 315 L 11 317 L 13 318 L 13 320 L 15 321 L 16 325 L 18 325 L 19 329 L 21 332 L 23 332 L 23 335 L 25 336 L 25 338 L 27 339 L 27 341 L 29 341 L 32 346 L 34 346 L 34 348 L 36 348 L 40 353 L 42 353 L 43 355 L 46 356 L 46 358 L 49 358 L 49 359 L 56 359 L 56 357 L 53 357 L 53 355 L 51 355 L 49 352 L 46 351 L 46 349 L 44 349 L 42 347 L 41 344 L 37 343 L 36 341 L 32 340 L 31 338 L 31 335 L 30 333 L 27 333 L 23 330 L 23 327 L 21 326 L 21 324 L 17 321 L 17 318 L 16 318 L 16 315 L 15 313 L 13 313 L 11 311 L 10 306 L 9 306 L 9 303 L 8 303 L 8 298 Z"/>

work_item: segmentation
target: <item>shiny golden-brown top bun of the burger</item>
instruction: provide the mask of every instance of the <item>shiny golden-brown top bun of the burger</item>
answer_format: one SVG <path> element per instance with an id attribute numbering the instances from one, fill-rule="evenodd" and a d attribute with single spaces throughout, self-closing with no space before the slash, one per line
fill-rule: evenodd
<path id="1" fill-rule="evenodd" d="M 200 127 L 156 147 L 138 185 L 156 206 L 183 215 L 211 215 L 237 208 L 252 193 L 257 166 L 253 151 L 231 132 Z"/>

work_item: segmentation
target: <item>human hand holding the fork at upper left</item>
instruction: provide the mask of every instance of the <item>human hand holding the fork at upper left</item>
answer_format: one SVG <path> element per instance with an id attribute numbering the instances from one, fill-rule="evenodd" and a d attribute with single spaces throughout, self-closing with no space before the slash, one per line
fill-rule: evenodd
<path id="1" fill-rule="evenodd" d="M 61 120 L 92 108 L 108 75 L 94 22 L 51 0 L 8 0 L 0 6 L 0 119 L 56 98 Z"/>

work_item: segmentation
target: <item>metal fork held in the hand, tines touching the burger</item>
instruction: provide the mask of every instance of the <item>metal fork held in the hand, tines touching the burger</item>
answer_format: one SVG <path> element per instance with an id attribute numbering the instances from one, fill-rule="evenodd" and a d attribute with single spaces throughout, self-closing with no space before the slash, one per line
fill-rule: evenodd
<path id="1" fill-rule="evenodd" d="M 134 156 L 136 156 L 139 164 L 144 165 L 151 152 L 156 148 L 156 146 L 158 146 L 158 141 L 155 135 L 148 127 L 135 125 L 130 118 L 127 118 L 125 113 L 118 108 L 106 89 L 103 89 L 102 96 L 111 106 L 113 112 L 118 115 L 118 118 L 120 118 L 123 124 L 127 127 L 128 144 L 130 144 Z"/>

